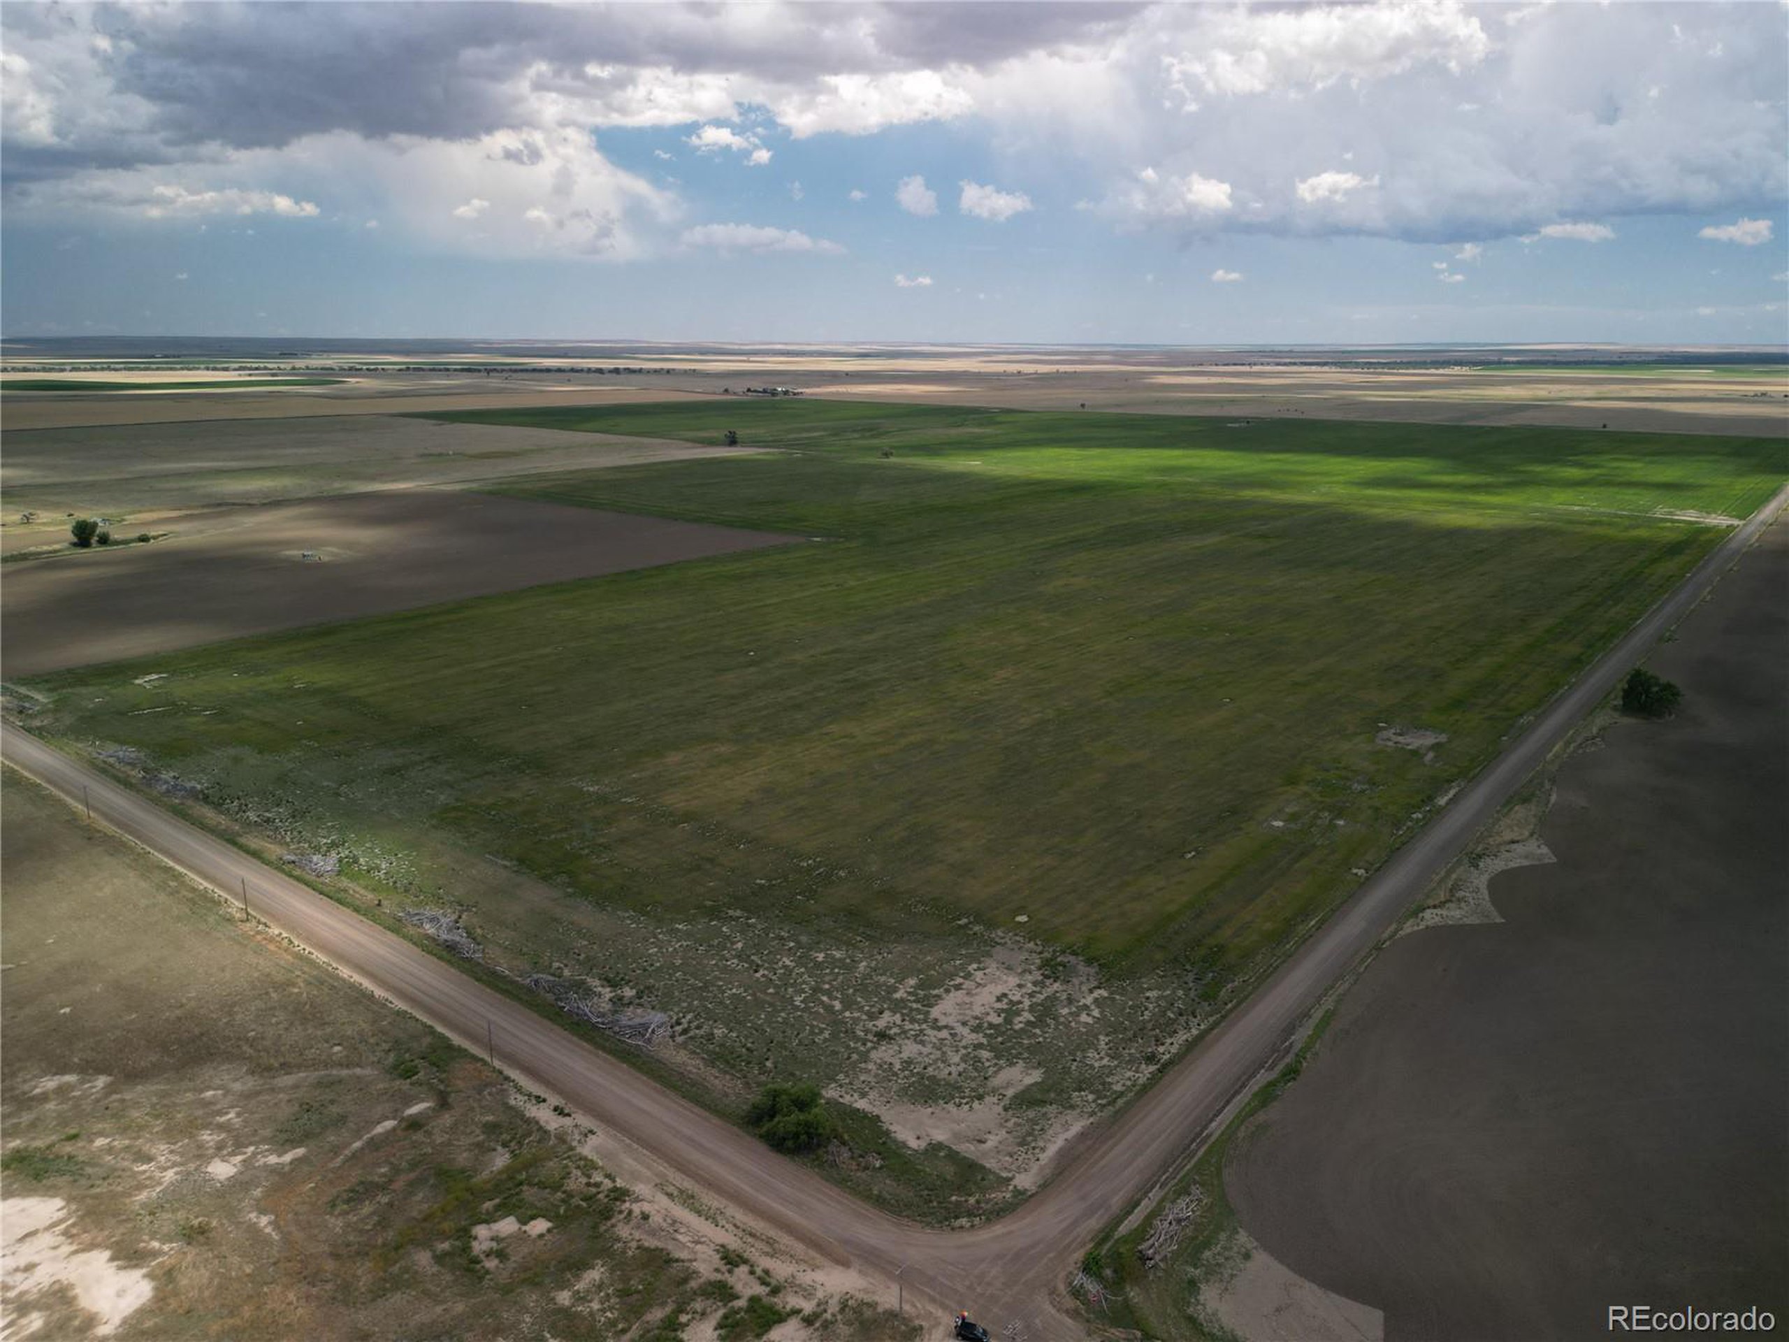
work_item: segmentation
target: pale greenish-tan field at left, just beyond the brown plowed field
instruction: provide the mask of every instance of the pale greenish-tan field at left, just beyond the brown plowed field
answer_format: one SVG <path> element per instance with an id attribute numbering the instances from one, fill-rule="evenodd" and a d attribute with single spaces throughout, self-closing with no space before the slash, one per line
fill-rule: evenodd
<path id="1" fill-rule="evenodd" d="M 186 533 L 191 514 L 225 505 L 733 451 L 741 449 L 395 415 L 9 431 L 0 462 L 7 505 L 0 553 L 66 546 L 70 515 L 107 517 L 118 537 Z M 25 512 L 38 517 L 25 522 Z"/>

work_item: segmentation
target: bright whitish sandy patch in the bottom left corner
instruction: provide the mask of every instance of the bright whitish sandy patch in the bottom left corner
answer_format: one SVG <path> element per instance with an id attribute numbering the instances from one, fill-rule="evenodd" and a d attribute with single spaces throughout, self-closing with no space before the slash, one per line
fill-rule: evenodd
<path id="1" fill-rule="evenodd" d="M 0 1337 L 36 1333 L 59 1288 L 73 1294 L 100 1337 L 116 1331 L 156 1294 L 148 1272 L 114 1263 L 104 1249 L 77 1247 L 68 1215 L 59 1197 L 0 1199 L 0 1290 L 7 1306 Z"/>

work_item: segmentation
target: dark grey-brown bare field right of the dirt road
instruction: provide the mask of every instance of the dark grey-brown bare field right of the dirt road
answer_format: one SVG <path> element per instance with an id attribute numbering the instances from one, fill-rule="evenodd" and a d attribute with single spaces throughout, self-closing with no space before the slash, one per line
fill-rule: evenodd
<path id="1" fill-rule="evenodd" d="M 1789 1317 L 1789 522 L 1649 666 L 1664 723 L 1560 769 L 1503 923 L 1392 943 L 1243 1134 L 1242 1224 L 1390 1338 Z"/>

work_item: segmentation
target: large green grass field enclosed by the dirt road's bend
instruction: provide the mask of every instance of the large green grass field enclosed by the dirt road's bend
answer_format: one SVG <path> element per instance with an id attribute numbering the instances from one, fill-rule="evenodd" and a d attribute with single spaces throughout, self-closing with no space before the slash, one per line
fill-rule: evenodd
<path id="1" fill-rule="evenodd" d="M 63 673 L 36 682 L 47 728 L 145 750 L 233 814 L 488 854 L 691 943 L 739 920 L 880 938 L 882 1004 L 902 979 L 869 966 L 900 938 L 955 938 L 970 975 L 977 929 L 1084 956 L 1118 995 L 1088 1040 L 1064 1047 L 1063 1004 L 1054 1025 L 986 1007 L 1032 1031 L 1014 1113 L 1098 1111 L 1147 1075 L 1190 993 L 1335 907 L 1723 535 L 1655 510 L 1744 515 L 1785 465 L 1732 437 L 823 401 L 501 420 L 737 429 L 766 451 L 504 488 L 825 542 Z M 580 954 L 596 973 L 630 947 Z M 723 959 L 630 982 L 696 1036 L 719 1016 L 717 1040 L 699 984 Z M 1120 1009 L 1163 973 L 1156 1006 Z M 955 1029 L 878 1025 L 800 968 L 757 991 L 766 1016 L 708 1054 L 746 1084 Z M 973 1100 L 1014 1061 L 975 1057 L 902 1102 Z M 1141 1072 L 1100 1074 L 1113 1057 Z"/>

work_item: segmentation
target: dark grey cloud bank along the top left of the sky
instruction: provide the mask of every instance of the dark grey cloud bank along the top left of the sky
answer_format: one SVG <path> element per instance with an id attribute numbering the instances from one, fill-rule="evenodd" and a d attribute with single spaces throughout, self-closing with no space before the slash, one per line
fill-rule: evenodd
<path id="1" fill-rule="evenodd" d="M 41 36 L 68 23 L 45 11 L 54 7 L 9 5 L 7 32 Z M 612 81 L 589 66 L 801 86 L 821 75 L 991 64 L 1109 32 L 1134 13 L 1107 4 L 258 2 L 98 7 L 91 21 L 111 43 L 95 59 L 109 93 L 147 104 L 138 132 L 267 149 L 327 131 L 487 134 L 515 125 L 535 89 L 599 97 Z"/>

